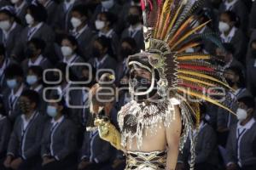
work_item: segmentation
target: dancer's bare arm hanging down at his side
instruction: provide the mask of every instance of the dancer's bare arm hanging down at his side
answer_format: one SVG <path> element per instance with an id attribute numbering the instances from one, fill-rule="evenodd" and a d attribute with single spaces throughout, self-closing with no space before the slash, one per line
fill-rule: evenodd
<path id="1" fill-rule="evenodd" d="M 182 129 L 182 122 L 178 106 L 175 106 L 175 120 L 166 127 L 166 139 L 168 144 L 166 170 L 175 170 L 177 164 L 179 140 Z"/>

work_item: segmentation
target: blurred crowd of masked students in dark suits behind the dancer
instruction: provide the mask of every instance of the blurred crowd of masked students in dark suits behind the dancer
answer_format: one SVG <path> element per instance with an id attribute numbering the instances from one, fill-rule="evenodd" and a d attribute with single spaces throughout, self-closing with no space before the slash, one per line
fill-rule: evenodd
<path id="1" fill-rule="evenodd" d="M 195 170 L 255 170 L 256 1 L 206 0 L 195 17 L 197 26 L 211 20 L 198 33 L 213 42 L 187 52 L 220 60 L 237 114 L 201 105 Z M 131 100 L 125 61 L 144 48 L 142 19 L 140 0 L 0 0 L 1 170 L 124 169 L 124 154 L 85 130 L 93 117 L 84 105 L 110 72 L 123 89 L 110 108 L 118 127 Z M 187 143 L 177 170 L 189 169 Z"/>

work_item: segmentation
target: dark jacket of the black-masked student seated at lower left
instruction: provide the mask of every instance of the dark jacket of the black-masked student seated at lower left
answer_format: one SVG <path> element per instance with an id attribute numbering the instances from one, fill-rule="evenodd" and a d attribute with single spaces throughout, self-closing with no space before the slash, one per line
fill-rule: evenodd
<path id="1" fill-rule="evenodd" d="M 31 122 L 28 123 L 26 131 L 23 131 L 23 120 L 21 116 L 16 120 L 14 130 L 11 134 L 8 146 L 8 155 L 21 156 L 29 159 L 39 156 L 41 138 L 44 129 L 44 117 L 37 112 Z"/>

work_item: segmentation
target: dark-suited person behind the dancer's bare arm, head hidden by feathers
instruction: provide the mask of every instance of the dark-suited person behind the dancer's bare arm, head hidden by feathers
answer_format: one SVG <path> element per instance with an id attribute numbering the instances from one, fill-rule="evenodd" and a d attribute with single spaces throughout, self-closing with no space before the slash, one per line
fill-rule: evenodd
<path id="1" fill-rule="evenodd" d="M 215 170 L 218 165 L 217 137 L 213 128 L 205 120 L 206 105 L 202 104 L 201 121 L 197 130 L 194 130 L 193 138 L 196 135 L 195 145 L 195 170 Z M 177 170 L 189 169 L 190 161 L 190 139 L 186 142 L 183 152 L 179 153 Z"/>

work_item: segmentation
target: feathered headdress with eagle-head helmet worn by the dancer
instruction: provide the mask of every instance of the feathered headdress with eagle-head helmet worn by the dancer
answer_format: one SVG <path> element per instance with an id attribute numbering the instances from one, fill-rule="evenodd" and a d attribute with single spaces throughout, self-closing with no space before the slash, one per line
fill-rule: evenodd
<path id="1" fill-rule="evenodd" d="M 128 67 L 139 65 L 151 71 L 153 76 L 158 75 L 154 80 L 157 93 L 162 98 L 173 97 L 181 101 L 183 122 L 187 129 L 193 126 L 189 116 L 195 116 L 199 122 L 200 101 L 234 113 L 226 105 L 230 100 L 226 94 L 232 89 L 224 80 L 221 68 L 215 64 L 216 58 L 211 54 L 186 52 L 186 49 L 199 46 L 203 38 L 221 46 L 217 38 L 212 37 L 213 33 L 198 33 L 210 22 L 197 25 L 196 10 L 203 1 L 141 0 L 141 3 L 145 52 L 130 56 Z M 189 132 L 183 135 L 183 143 L 188 135 Z"/>

